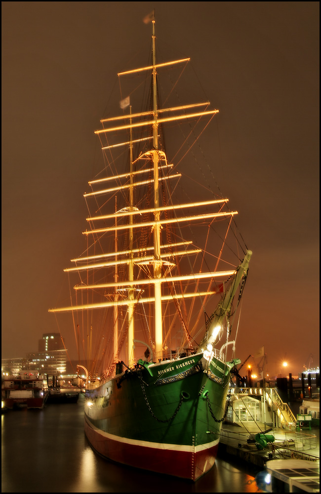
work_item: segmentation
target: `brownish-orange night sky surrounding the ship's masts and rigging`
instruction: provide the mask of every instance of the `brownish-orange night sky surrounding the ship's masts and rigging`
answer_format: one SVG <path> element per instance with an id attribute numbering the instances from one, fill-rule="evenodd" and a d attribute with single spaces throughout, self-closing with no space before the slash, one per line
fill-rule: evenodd
<path id="1" fill-rule="evenodd" d="M 1 7 L 2 358 L 58 331 L 48 309 L 81 253 L 94 130 L 117 72 L 145 65 L 155 8 L 167 60 L 191 57 L 220 111 L 217 181 L 253 250 L 237 354 L 264 345 L 270 374 L 319 366 L 319 2 Z"/>

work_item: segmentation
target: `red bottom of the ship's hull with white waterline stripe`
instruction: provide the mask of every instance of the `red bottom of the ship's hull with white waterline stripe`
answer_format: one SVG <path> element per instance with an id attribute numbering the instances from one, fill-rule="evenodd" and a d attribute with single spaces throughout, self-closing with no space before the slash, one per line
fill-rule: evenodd
<path id="1" fill-rule="evenodd" d="M 218 440 L 208 446 L 192 448 L 164 444 L 156 447 L 155 443 L 118 438 L 95 428 L 86 417 L 84 430 L 93 449 L 106 458 L 193 481 L 212 468 L 218 450 Z"/>

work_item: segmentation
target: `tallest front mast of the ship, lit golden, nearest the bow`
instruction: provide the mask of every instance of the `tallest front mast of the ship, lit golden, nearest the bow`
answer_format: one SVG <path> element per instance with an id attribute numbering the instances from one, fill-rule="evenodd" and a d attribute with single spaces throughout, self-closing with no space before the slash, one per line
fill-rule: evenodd
<path id="1" fill-rule="evenodd" d="M 161 225 L 160 195 L 159 195 L 159 155 L 158 155 L 158 114 L 157 114 L 157 81 L 156 81 L 156 49 L 155 49 L 155 19 L 153 23 L 153 163 L 154 163 L 154 295 L 155 295 L 155 356 L 162 358 L 162 314 L 161 314 Z"/>

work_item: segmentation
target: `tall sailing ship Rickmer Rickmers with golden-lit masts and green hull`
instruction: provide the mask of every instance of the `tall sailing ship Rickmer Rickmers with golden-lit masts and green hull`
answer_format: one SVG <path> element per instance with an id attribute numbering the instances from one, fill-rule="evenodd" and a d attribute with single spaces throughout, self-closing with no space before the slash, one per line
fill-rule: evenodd
<path id="1" fill-rule="evenodd" d="M 237 243 L 237 211 L 208 183 L 198 199 L 182 200 L 199 184 L 187 185 L 181 172 L 197 165 L 187 156 L 175 163 L 173 152 L 169 159 L 164 136 L 176 144 L 173 125 L 186 132 L 188 124 L 178 146 L 185 154 L 218 110 L 208 101 L 161 107 L 159 74 L 182 72 L 189 59 L 158 63 L 154 19 L 152 27 L 150 64 L 118 74 L 134 76 L 137 86 L 136 78 L 149 81 L 148 103 L 138 111 L 122 98 L 121 115 L 95 131 L 104 169 L 84 194 L 86 249 L 65 269 L 78 278 L 75 299 L 50 311 L 71 312 L 90 361 L 84 427 L 91 446 L 117 462 L 196 481 L 214 464 L 241 363 L 237 309 L 251 251 Z"/>

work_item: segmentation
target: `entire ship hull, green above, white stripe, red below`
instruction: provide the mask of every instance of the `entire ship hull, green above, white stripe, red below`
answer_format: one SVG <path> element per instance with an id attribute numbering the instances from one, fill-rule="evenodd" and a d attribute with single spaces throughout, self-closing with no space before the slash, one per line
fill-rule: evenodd
<path id="1" fill-rule="evenodd" d="M 89 442 L 113 460 L 197 480 L 214 464 L 234 363 L 208 365 L 197 354 L 145 364 L 88 390 Z"/>

